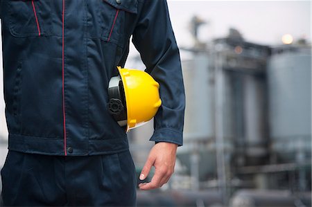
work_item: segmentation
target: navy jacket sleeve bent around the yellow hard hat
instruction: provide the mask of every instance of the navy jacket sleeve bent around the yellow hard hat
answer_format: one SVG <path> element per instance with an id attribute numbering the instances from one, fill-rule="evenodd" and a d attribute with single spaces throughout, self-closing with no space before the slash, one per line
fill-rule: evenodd
<path id="1" fill-rule="evenodd" d="M 154 118 L 150 141 L 182 145 L 184 84 L 180 53 L 168 14 L 166 0 L 139 0 L 139 19 L 132 42 L 141 54 L 146 72 L 159 83 L 162 106 Z"/>

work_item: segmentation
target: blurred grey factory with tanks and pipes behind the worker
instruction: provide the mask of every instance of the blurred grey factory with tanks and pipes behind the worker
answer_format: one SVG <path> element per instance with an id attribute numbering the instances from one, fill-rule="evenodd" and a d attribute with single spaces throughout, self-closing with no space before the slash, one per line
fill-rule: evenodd
<path id="1" fill-rule="evenodd" d="M 264 45 L 229 28 L 202 40 L 208 22 L 189 19 L 193 43 L 180 44 L 187 108 L 175 174 L 138 191 L 138 206 L 311 206 L 311 36 Z M 138 55 L 126 66 L 144 69 Z M 138 174 L 152 134 L 153 121 L 128 134 Z"/>

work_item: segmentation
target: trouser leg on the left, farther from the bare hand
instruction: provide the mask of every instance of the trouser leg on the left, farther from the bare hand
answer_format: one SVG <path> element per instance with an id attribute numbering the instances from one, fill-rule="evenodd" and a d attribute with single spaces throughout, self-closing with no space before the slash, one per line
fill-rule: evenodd
<path id="1" fill-rule="evenodd" d="M 63 206 L 64 159 L 9 150 L 1 170 L 3 206 Z"/>

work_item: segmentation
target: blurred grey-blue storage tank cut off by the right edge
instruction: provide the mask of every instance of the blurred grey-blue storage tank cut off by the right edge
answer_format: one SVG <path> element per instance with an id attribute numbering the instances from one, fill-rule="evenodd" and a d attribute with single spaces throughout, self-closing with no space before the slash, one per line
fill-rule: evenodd
<path id="1" fill-rule="evenodd" d="M 273 48 L 268 91 L 276 161 L 311 160 L 311 46 Z"/>

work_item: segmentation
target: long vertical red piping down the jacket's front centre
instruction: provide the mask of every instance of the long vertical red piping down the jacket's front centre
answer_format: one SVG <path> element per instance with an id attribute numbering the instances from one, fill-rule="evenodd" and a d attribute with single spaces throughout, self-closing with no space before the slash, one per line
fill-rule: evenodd
<path id="1" fill-rule="evenodd" d="M 62 110 L 63 110 L 63 131 L 64 131 L 64 153 L 67 156 L 66 150 L 66 117 L 65 117 L 65 93 L 64 93 L 64 15 L 65 15 L 65 0 L 62 8 Z"/>

